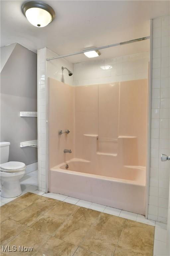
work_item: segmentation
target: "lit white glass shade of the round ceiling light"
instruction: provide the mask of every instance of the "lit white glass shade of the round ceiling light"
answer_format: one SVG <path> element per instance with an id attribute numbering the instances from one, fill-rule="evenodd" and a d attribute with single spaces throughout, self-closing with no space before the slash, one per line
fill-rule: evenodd
<path id="1" fill-rule="evenodd" d="M 45 27 L 51 20 L 51 14 L 40 8 L 30 8 L 26 11 L 27 20 L 36 27 Z"/>

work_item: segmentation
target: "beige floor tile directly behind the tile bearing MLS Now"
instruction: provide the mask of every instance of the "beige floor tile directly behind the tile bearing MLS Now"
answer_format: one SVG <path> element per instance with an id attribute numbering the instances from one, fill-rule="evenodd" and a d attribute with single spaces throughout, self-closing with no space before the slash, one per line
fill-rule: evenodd
<path id="1" fill-rule="evenodd" d="M 41 231 L 47 235 L 53 235 L 53 233 L 61 226 L 63 220 L 48 215 L 41 216 L 30 227 Z"/>

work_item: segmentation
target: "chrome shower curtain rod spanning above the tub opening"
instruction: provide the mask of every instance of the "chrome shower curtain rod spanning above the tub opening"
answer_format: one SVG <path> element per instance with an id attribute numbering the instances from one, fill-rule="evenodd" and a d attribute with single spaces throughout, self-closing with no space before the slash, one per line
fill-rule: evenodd
<path id="1" fill-rule="evenodd" d="M 130 43 L 134 43 L 134 42 L 139 42 L 139 41 L 147 40 L 147 39 L 149 39 L 149 38 L 150 38 L 150 36 L 145 36 L 145 37 L 133 39 L 133 40 L 130 40 L 130 41 L 125 41 L 125 42 L 121 42 L 121 43 L 105 45 L 105 46 L 96 47 L 96 48 L 85 49 L 85 50 L 80 51 L 80 52 L 75 52 L 75 53 L 60 55 L 60 56 L 57 56 L 57 57 L 47 58 L 46 60 L 49 61 L 49 60 L 60 59 L 60 58 L 69 57 L 69 56 L 73 56 L 73 55 L 77 55 L 77 54 L 82 54 L 82 53 L 84 53 L 84 52 L 96 51 L 96 50 L 106 49 L 106 48 L 110 48 L 110 47 L 114 47 L 114 46 L 118 46 L 118 45 L 123 45 L 123 44 L 130 44 Z"/>

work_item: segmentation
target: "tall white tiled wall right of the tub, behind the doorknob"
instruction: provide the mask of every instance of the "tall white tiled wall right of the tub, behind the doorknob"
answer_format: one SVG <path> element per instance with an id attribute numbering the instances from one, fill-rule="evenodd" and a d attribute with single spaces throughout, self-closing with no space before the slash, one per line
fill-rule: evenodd
<path id="1" fill-rule="evenodd" d="M 170 17 L 153 20 L 151 151 L 148 219 L 167 223 L 170 155 Z"/>

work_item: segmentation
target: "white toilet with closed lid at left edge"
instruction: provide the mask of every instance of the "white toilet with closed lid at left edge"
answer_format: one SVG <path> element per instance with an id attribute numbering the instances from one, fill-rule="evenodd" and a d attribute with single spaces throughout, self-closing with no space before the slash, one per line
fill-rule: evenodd
<path id="1" fill-rule="evenodd" d="M 20 179 L 25 174 L 26 165 L 22 162 L 8 162 L 10 142 L 0 142 L 1 196 L 6 198 L 21 195 Z"/>

